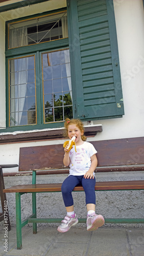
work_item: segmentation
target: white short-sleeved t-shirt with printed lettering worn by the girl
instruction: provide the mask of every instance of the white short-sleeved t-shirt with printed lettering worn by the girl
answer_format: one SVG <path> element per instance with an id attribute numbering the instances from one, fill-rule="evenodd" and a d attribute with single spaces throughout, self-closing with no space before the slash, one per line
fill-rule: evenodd
<path id="1" fill-rule="evenodd" d="M 97 151 L 91 143 L 86 141 L 82 145 L 76 146 L 76 150 L 77 152 L 75 151 L 75 146 L 73 146 L 69 153 L 69 175 L 84 175 L 90 168 L 90 157 L 96 154 Z"/>

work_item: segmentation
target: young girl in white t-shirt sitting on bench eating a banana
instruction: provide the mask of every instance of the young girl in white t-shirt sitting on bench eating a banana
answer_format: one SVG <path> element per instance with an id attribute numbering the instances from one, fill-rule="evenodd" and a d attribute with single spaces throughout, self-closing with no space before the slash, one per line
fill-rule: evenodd
<path id="1" fill-rule="evenodd" d="M 86 142 L 84 136 L 83 123 L 79 119 L 66 119 L 64 127 L 66 135 L 71 138 L 76 137 L 76 150 L 73 146 L 70 151 L 67 150 L 68 144 L 64 148 L 63 163 L 70 167 L 69 176 L 64 180 L 61 191 L 63 201 L 66 207 L 67 215 L 58 227 L 59 232 L 66 232 L 71 226 L 78 223 L 77 216 L 74 211 L 74 201 L 71 195 L 74 187 L 82 185 L 86 196 L 87 207 L 87 230 L 95 230 L 102 226 L 105 221 L 102 215 L 95 214 L 95 177 L 94 170 L 97 167 L 98 160 L 97 151 L 94 146 Z"/>

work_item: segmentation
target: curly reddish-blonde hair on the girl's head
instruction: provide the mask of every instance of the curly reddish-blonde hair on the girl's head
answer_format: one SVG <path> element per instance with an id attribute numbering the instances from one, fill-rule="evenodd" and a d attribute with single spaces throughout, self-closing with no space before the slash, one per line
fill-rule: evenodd
<path id="1" fill-rule="evenodd" d="M 76 124 L 76 126 L 80 129 L 80 131 L 84 131 L 84 124 L 82 123 L 82 121 L 80 119 L 69 119 L 69 118 L 66 118 L 65 119 L 65 123 L 64 123 L 64 127 L 65 127 L 65 134 L 64 136 L 65 137 L 68 137 L 68 133 L 67 133 L 67 129 L 68 129 L 68 125 L 69 124 Z M 83 134 L 81 136 L 82 140 L 83 141 L 86 141 L 86 136 Z"/>

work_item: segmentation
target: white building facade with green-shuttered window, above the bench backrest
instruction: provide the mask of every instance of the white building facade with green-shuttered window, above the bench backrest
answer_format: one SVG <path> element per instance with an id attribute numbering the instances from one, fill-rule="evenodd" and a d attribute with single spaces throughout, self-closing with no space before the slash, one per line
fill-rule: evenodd
<path id="1" fill-rule="evenodd" d="M 87 141 L 143 137 L 142 0 L 0 1 L 0 30 L 1 164 L 63 143 L 67 117 Z"/>

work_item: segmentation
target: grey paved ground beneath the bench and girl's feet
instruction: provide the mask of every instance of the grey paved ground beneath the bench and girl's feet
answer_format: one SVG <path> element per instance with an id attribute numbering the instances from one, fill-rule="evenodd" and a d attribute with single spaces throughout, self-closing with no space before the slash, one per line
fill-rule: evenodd
<path id="1" fill-rule="evenodd" d="M 0 227 L 0 255 L 9 256 L 143 256 L 144 230 L 142 228 L 101 227 L 86 231 L 86 227 L 71 227 L 60 233 L 56 227 L 22 228 L 22 249 L 16 249 L 16 228 L 8 232 L 8 252 L 4 251 L 4 226 Z"/>

